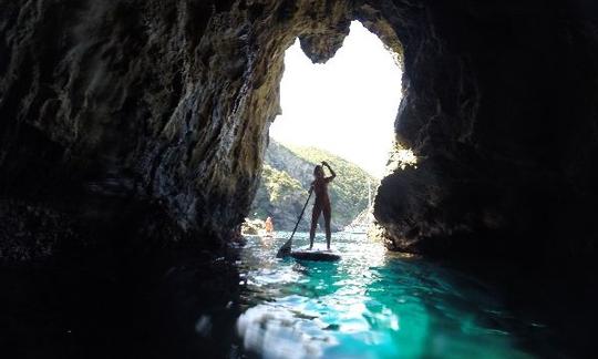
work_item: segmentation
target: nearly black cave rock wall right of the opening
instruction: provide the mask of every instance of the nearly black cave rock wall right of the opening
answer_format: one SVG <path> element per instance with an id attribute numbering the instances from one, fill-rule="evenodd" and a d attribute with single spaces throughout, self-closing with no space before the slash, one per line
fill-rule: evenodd
<path id="1" fill-rule="evenodd" d="M 591 261 L 597 6 L 456 1 L 409 18 L 395 126 L 420 162 L 378 193 L 389 245 L 443 257 Z"/>

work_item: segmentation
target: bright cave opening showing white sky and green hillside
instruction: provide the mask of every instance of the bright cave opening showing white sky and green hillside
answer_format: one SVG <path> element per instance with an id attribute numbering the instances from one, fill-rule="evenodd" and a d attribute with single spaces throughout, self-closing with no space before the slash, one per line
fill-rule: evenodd
<path id="1" fill-rule="evenodd" d="M 313 63 L 296 39 L 285 53 L 281 113 L 269 127 L 262 183 L 251 211 L 256 219 L 274 217 L 282 229 L 292 229 L 303 202 L 300 192 L 313 180 L 308 163 L 321 161 L 339 175 L 339 184 L 331 186 L 338 208 L 333 229 L 373 219 L 378 184 L 396 167 L 401 66 L 400 55 L 357 20 L 326 63 Z"/>

